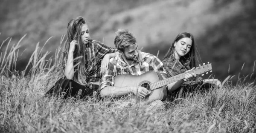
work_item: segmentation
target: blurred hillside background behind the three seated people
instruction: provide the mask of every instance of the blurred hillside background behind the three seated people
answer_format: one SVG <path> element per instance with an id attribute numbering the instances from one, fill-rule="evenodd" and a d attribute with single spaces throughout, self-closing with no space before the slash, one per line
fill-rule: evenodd
<path id="1" fill-rule="evenodd" d="M 42 47 L 52 37 L 44 52 L 54 55 L 67 23 L 78 16 L 87 20 L 94 40 L 114 47 L 115 31 L 128 29 L 139 49 L 154 55 L 159 50 L 161 60 L 177 34 L 186 31 L 194 35 L 201 61 L 212 63 L 215 78 L 236 75 L 236 82 L 240 73 L 253 81 L 255 12 L 255 0 L 0 0 L 0 42 L 12 37 L 10 45 L 17 44 L 27 34 L 17 65 L 23 71 L 38 42 Z"/>

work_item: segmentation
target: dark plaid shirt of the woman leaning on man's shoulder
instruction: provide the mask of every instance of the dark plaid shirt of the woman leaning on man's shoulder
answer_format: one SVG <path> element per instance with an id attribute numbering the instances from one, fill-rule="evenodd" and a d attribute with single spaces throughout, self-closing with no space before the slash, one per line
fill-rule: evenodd
<path id="1" fill-rule="evenodd" d="M 86 44 L 86 55 L 85 57 L 85 66 L 86 71 L 84 71 L 84 84 L 89 82 L 99 82 L 102 74 L 100 73 L 101 61 L 105 54 L 117 52 L 115 48 L 110 48 L 102 42 L 98 42 L 95 40 L 89 40 Z M 65 70 L 65 66 L 67 64 L 67 54 L 64 54 L 63 58 L 63 69 Z M 74 68 L 77 70 L 77 66 Z M 92 85 L 89 83 L 87 87 L 92 88 Z"/>

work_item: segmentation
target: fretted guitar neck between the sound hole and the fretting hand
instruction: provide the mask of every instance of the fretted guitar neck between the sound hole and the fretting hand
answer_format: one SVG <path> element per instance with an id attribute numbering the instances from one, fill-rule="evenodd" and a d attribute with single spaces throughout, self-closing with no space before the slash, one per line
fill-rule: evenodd
<path id="1" fill-rule="evenodd" d="M 182 74 L 178 74 L 178 75 L 172 76 L 172 77 L 169 77 L 167 79 L 163 79 L 163 80 L 151 83 L 150 84 L 150 88 L 151 88 L 151 90 L 155 90 L 155 89 L 160 88 L 160 87 L 162 87 L 164 85 L 168 85 L 170 83 L 176 82 L 176 81 L 178 81 L 180 79 L 185 79 L 185 74 L 186 74 L 186 72 L 182 73 Z"/>

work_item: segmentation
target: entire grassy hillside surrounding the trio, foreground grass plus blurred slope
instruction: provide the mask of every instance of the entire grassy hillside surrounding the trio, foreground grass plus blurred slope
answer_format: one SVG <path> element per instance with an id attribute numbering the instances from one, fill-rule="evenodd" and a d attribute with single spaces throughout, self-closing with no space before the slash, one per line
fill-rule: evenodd
<path id="1" fill-rule="evenodd" d="M 255 78 L 255 1 L 148 2 L 1 0 L 0 41 L 12 40 L 0 45 L 0 133 L 255 133 L 256 85 L 243 82 L 243 74 Z M 114 31 L 128 28 L 143 51 L 160 50 L 160 58 L 176 34 L 189 31 L 202 61 L 212 62 L 215 77 L 223 81 L 236 76 L 221 88 L 166 100 L 162 108 L 99 101 L 96 96 L 86 101 L 43 98 L 63 76 L 57 47 L 63 44 L 67 22 L 77 16 L 87 18 L 93 38 L 111 43 Z M 233 79 L 239 82 L 233 84 Z"/>

